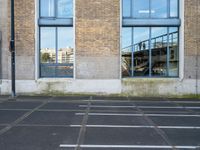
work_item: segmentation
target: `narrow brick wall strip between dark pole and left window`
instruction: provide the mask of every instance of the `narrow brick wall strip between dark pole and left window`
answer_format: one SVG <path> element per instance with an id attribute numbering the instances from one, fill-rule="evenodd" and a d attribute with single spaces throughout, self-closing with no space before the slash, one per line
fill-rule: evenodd
<path id="1" fill-rule="evenodd" d="M 8 16 L 8 26 L 10 26 L 10 1 L 8 1 Z M 10 35 L 9 32 L 8 35 Z M 34 0 L 15 1 L 15 40 L 16 78 L 23 80 L 35 79 Z"/>

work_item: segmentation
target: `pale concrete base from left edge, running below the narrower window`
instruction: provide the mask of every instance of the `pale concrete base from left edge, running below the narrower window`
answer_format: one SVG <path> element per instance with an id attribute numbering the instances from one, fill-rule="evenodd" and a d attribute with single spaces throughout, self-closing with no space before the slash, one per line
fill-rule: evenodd
<path id="1" fill-rule="evenodd" d="M 2 94 L 10 93 L 10 80 L 3 80 Z M 121 80 L 39 79 L 17 80 L 17 94 L 62 95 L 69 93 L 120 94 Z"/>

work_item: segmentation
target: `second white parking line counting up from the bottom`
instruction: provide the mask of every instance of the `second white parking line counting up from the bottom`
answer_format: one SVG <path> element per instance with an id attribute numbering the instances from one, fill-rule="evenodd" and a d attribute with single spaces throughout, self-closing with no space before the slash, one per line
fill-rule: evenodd
<path id="1" fill-rule="evenodd" d="M 70 125 L 81 127 L 81 125 Z M 130 125 L 86 125 L 88 128 L 160 128 L 160 129 L 200 129 L 199 126 L 130 126 Z"/>

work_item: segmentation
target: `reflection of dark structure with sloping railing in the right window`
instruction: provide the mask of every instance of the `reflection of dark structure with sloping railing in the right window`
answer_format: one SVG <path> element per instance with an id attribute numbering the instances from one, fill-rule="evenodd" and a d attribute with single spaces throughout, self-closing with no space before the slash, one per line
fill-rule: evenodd
<path id="1" fill-rule="evenodd" d="M 177 64 L 178 61 L 178 55 L 175 54 L 177 44 L 178 32 L 176 31 L 123 48 L 123 75 L 132 76 L 134 74 L 136 76 L 146 76 L 149 75 L 149 69 L 151 70 L 151 75 L 167 75 L 167 55 L 170 55 L 169 63 Z M 169 54 L 167 54 L 168 46 Z M 149 48 L 151 48 L 151 62 L 149 59 Z M 150 66 L 151 68 L 149 68 Z"/>

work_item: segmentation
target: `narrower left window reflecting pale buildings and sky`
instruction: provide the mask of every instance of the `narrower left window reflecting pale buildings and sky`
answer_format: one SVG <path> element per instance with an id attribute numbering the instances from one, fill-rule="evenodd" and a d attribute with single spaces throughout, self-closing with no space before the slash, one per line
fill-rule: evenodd
<path id="1" fill-rule="evenodd" d="M 72 0 L 40 0 L 40 77 L 73 77 L 72 11 Z"/>

